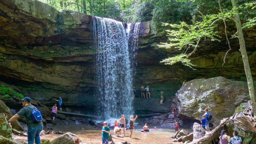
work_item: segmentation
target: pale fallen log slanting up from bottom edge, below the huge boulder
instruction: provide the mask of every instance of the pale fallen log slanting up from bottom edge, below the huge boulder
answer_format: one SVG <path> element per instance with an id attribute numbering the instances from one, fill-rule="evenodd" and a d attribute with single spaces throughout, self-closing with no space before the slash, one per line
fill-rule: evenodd
<path id="1" fill-rule="evenodd" d="M 235 114 L 231 117 L 231 119 L 234 118 L 234 116 L 235 116 Z M 213 129 L 212 131 L 205 134 L 202 138 L 197 139 L 195 141 L 192 141 L 189 144 L 206 144 L 206 143 L 209 143 L 214 138 L 216 138 L 220 135 L 220 132 L 221 132 L 223 126 L 226 124 L 227 120 L 229 120 L 229 119 L 230 119 L 229 117 L 222 119 L 220 124 L 215 129 Z"/>

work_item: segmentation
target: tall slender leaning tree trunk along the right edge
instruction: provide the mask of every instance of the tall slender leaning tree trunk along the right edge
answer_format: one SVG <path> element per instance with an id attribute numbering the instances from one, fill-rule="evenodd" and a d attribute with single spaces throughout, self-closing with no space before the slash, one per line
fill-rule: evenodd
<path id="1" fill-rule="evenodd" d="M 247 57 L 247 52 L 245 49 L 242 25 L 241 25 L 240 17 L 238 15 L 238 8 L 237 8 L 236 0 L 231 0 L 231 3 L 232 3 L 232 6 L 236 8 L 236 9 L 234 9 L 234 12 L 236 12 L 236 14 L 234 15 L 234 21 L 236 23 L 236 28 L 237 28 L 236 35 L 238 36 L 238 39 L 239 39 L 239 44 L 240 44 L 239 51 L 242 54 L 242 58 L 243 58 L 243 62 L 244 62 L 244 71 L 245 71 L 248 88 L 249 88 L 249 95 L 250 95 L 250 98 L 252 101 L 252 114 L 254 116 L 256 116 L 256 114 L 255 114 L 256 111 L 254 111 L 256 109 L 255 91 L 254 91 L 254 86 L 253 86 L 252 73 L 251 73 L 251 69 L 250 69 L 250 65 L 249 65 L 249 61 L 248 61 L 248 57 Z"/>

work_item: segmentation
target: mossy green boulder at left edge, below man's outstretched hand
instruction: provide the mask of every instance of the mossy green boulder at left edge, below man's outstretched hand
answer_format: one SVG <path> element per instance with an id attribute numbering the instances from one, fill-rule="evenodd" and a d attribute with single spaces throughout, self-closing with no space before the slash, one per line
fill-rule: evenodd
<path id="1" fill-rule="evenodd" d="M 12 129 L 10 125 L 5 121 L 5 115 L 0 113 L 0 135 L 12 140 Z"/>

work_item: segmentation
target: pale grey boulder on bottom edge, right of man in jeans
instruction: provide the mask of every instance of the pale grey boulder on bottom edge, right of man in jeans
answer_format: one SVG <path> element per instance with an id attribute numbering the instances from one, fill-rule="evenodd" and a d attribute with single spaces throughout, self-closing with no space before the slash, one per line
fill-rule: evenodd
<path id="1" fill-rule="evenodd" d="M 76 134 L 67 132 L 58 138 L 55 138 L 51 141 L 51 144 L 74 144 L 74 140 L 78 138 Z"/>

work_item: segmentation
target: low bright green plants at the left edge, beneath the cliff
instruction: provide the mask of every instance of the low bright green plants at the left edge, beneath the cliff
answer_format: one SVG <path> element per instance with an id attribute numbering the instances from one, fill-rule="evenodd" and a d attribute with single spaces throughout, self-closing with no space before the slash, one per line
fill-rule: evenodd
<path id="1" fill-rule="evenodd" d="M 15 92 L 14 90 L 12 90 L 10 87 L 5 87 L 4 85 L 0 86 L 0 97 L 1 98 L 8 98 L 8 97 L 19 97 L 21 99 L 24 98 L 24 96 L 18 92 Z"/>

